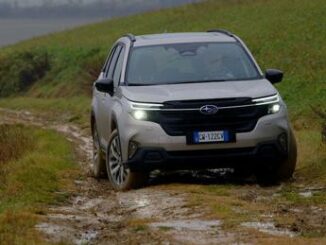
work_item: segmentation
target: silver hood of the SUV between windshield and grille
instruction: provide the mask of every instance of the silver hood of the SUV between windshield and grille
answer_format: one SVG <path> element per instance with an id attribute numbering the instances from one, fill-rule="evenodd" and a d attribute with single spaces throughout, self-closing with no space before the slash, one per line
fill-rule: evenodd
<path id="1" fill-rule="evenodd" d="M 162 103 L 174 100 L 202 100 L 218 98 L 258 98 L 277 93 L 266 79 L 208 83 L 184 83 L 153 86 L 122 86 L 128 100 Z"/>

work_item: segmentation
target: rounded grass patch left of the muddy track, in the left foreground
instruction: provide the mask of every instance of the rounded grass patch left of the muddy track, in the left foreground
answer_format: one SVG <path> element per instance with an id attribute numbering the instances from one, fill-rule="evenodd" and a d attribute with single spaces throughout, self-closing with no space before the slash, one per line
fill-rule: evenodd
<path id="1" fill-rule="evenodd" d="M 44 244 L 33 227 L 67 198 L 72 147 L 53 131 L 0 125 L 0 149 L 0 243 Z"/>

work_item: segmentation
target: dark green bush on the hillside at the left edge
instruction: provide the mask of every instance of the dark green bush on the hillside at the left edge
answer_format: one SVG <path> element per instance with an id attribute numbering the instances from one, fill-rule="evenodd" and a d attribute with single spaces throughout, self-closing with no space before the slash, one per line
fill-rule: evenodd
<path id="1" fill-rule="evenodd" d="M 50 70 L 44 50 L 22 51 L 0 58 L 0 96 L 27 91 Z"/>

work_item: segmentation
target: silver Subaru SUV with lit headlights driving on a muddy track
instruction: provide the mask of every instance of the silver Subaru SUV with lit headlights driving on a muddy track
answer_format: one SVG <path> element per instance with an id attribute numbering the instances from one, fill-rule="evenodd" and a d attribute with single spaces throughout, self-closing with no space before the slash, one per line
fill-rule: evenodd
<path id="1" fill-rule="evenodd" d="M 290 178 L 296 141 L 272 85 L 282 78 L 263 74 L 225 30 L 120 38 L 93 86 L 94 175 L 116 190 L 143 185 L 152 170 Z"/>

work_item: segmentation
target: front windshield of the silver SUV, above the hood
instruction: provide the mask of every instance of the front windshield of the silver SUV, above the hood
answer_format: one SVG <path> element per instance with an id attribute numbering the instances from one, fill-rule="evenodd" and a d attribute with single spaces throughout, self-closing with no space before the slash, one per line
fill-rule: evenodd
<path id="1" fill-rule="evenodd" d="M 160 85 L 260 78 L 237 43 L 186 43 L 136 47 L 127 69 L 129 85 Z"/>

